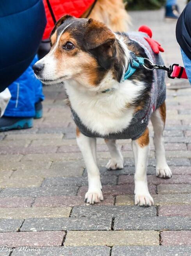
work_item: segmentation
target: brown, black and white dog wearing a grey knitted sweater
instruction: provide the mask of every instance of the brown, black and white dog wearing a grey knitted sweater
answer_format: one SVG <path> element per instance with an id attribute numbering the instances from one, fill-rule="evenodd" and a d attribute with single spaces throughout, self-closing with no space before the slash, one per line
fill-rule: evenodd
<path id="1" fill-rule="evenodd" d="M 50 52 L 33 66 L 44 84 L 65 84 L 77 124 L 77 144 L 87 168 L 85 202 L 89 204 L 104 199 L 96 164 L 96 137 L 105 139 L 111 154 L 106 167 L 112 170 L 123 168 L 116 139 L 132 139 L 136 205 L 154 205 L 146 178 L 149 120 L 154 127 L 156 175 L 172 175 L 162 137 L 166 119 L 164 71 L 152 70 L 147 60 L 154 58 L 160 64 L 162 58 L 153 54 L 142 34 L 145 36 L 142 32 L 115 33 L 96 20 L 65 15 L 50 35 Z M 136 69 L 137 59 L 147 63 Z"/>

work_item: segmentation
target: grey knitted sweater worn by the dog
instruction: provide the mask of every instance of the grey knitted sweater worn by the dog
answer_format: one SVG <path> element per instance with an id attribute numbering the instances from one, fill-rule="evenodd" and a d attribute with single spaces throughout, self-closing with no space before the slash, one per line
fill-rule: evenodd
<path id="1" fill-rule="evenodd" d="M 137 42 L 145 50 L 148 59 L 152 63 L 158 65 L 164 65 L 161 55 L 155 54 L 148 42 L 144 39 L 147 36 L 143 32 L 129 32 L 127 34 L 129 38 Z M 99 133 L 92 132 L 85 124 L 82 123 L 77 113 L 71 108 L 73 119 L 78 126 L 80 132 L 82 132 L 87 137 L 101 137 L 104 139 L 132 139 L 136 140 L 145 132 L 145 129 L 150 120 L 152 113 L 159 107 L 166 99 L 166 84 L 164 81 L 165 71 L 164 70 L 154 70 L 154 82 L 151 88 L 151 96 L 148 103 L 144 106 L 144 109 L 136 112 L 130 122 L 130 125 L 125 128 L 122 132 L 109 133 L 108 135 L 100 135 Z"/>

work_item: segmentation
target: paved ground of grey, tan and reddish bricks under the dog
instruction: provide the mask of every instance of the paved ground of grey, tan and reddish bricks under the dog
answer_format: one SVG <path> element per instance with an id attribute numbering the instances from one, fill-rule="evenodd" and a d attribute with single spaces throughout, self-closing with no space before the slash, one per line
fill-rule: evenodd
<path id="1" fill-rule="evenodd" d="M 175 22 L 164 22 L 163 11 L 131 13 L 134 29 L 150 25 L 166 49 L 166 64 L 182 63 Z M 130 141 L 119 141 L 124 169 L 107 171 L 109 153 L 98 139 L 105 200 L 84 203 L 87 172 L 64 88 L 44 88 L 44 116 L 34 128 L 0 134 L 0 246 L 9 247 L 0 248 L 0 255 L 191 255 L 191 88 L 186 81 L 167 83 L 164 139 L 173 178 L 155 177 L 151 138 L 148 184 L 155 206 L 150 208 L 134 206 Z M 187 88 L 173 89 L 178 87 Z"/>

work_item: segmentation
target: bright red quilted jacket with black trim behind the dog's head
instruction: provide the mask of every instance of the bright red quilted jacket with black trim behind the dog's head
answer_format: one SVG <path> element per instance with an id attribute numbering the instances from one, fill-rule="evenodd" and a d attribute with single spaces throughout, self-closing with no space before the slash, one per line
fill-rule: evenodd
<path id="1" fill-rule="evenodd" d="M 47 0 L 43 0 L 46 11 L 47 25 L 43 39 L 50 36 L 54 27 L 54 20 L 47 5 Z M 52 11 L 57 21 L 64 14 L 70 14 L 79 18 L 94 2 L 94 0 L 49 0 Z"/>

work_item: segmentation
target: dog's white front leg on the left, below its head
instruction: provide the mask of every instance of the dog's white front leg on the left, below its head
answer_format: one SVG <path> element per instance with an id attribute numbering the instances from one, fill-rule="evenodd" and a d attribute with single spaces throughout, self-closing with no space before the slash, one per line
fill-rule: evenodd
<path id="1" fill-rule="evenodd" d="M 88 191 L 85 195 L 85 202 L 89 204 L 103 201 L 100 171 L 96 164 L 96 139 L 86 137 L 77 128 L 77 143 L 84 157 L 87 168 Z"/>

